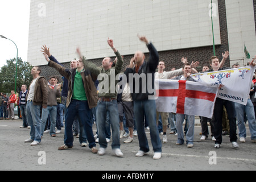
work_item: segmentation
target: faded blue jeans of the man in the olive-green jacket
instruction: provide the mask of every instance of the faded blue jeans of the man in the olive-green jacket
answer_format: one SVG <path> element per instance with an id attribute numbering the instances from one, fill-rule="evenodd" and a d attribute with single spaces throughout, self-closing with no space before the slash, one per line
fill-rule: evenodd
<path id="1" fill-rule="evenodd" d="M 108 143 L 106 142 L 105 135 L 105 122 L 107 120 L 107 112 L 109 112 L 109 121 L 112 127 L 112 149 L 120 148 L 120 139 L 119 139 L 119 114 L 117 101 L 98 101 L 96 108 L 97 115 L 97 128 L 98 128 L 98 139 L 100 147 L 106 148 L 108 147 Z"/>

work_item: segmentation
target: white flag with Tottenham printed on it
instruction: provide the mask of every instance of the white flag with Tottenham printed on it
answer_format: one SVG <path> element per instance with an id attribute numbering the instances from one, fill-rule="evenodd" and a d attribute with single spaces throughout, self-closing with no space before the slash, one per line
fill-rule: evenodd
<path id="1" fill-rule="evenodd" d="M 248 66 L 197 73 L 191 77 L 203 85 L 224 85 L 218 92 L 218 98 L 246 105 L 254 71 L 255 67 Z"/>

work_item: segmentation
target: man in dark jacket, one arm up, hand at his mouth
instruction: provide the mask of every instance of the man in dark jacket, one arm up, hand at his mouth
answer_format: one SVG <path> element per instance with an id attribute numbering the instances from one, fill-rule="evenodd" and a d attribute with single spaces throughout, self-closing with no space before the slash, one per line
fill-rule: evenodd
<path id="1" fill-rule="evenodd" d="M 149 98 L 154 96 L 155 70 L 158 67 L 159 55 L 153 44 L 148 42 L 145 36 L 138 37 L 139 40 L 146 44 L 150 52 L 150 58 L 145 61 L 144 53 L 141 51 L 135 52 L 134 59 L 130 61 L 130 66 L 125 71 L 134 101 L 134 118 L 139 139 L 139 151 L 135 156 L 142 157 L 150 150 L 144 130 L 144 117 L 146 117 L 154 150 L 153 159 L 160 159 L 162 156 L 162 143 L 155 122 L 156 105 L 155 100 L 150 100 Z"/>

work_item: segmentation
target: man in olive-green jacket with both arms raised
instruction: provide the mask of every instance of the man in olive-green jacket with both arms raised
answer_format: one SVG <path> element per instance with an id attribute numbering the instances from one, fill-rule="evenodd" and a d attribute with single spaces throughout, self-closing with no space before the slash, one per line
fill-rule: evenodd
<path id="1" fill-rule="evenodd" d="M 98 155 L 104 155 L 106 152 L 106 147 L 108 147 L 108 143 L 106 142 L 105 137 L 105 122 L 106 114 L 109 111 L 109 119 L 113 134 L 112 150 L 114 155 L 122 157 L 123 153 L 120 150 L 119 141 L 119 114 L 117 106 L 117 91 L 115 90 L 115 85 L 117 85 L 118 80 L 115 80 L 115 76 L 117 76 L 118 73 L 121 72 L 123 66 L 123 58 L 114 47 L 112 39 L 108 39 L 108 44 L 113 49 L 115 56 L 117 57 L 117 63 L 114 67 L 112 67 L 114 60 L 110 57 L 105 57 L 102 60 L 102 67 L 98 67 L 96 64 L 91 63 L 85 59 L 83 59 L 83 61 L 87 69 L 89 69 L 94 75 L 98 75 L 99 81 L 99 101 L 96 109 L 96 125 L 98 128 L 98 138 L 100 144 Z M 77 53 L 79 53 L 81 57 L 80 49 L 77 49 Z M 103 76 L 104 78 L 100 78 L 99 75 Z M 111 79 L 111 75 L 114 76 L 113 80 Z M 102 83 L 104 83 L 104 85 Z"/>

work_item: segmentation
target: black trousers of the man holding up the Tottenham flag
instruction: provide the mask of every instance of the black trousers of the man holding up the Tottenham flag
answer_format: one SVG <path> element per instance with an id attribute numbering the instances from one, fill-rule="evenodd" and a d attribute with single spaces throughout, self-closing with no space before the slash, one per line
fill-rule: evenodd
<path id="1" fill-rule="evenodd" d="M 216 98 L 216 102 L 214 105 L 213 111 L 213 126 L 214 126 L 214 138 L 216 139 L 215 143 L 221 144 L 222 143 L 222 115 L 223 115 L 223 106 L 225 106 L 226 111 L 228 113 L 229 119 L 229 137 L 230 142 L 237 141 L 237 119 L 236 119 L 236 111 L 234 107 L 234 102 L 223 100 L 221 98 Z"/>

